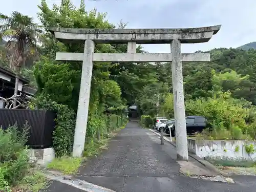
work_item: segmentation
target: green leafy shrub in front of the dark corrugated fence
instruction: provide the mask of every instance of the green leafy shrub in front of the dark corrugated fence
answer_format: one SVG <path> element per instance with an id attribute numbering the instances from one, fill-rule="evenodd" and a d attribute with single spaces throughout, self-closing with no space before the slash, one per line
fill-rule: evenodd
<path id="1" fill-rule="evenodd" d="M 9 126 L 7 130 L 0 129 L 0 191 L 10 190 L 22 180 L 29 168 L 29 158 L 25 143 L 28 139 L 27 124 L 22 133 L 17 126 Z"/>

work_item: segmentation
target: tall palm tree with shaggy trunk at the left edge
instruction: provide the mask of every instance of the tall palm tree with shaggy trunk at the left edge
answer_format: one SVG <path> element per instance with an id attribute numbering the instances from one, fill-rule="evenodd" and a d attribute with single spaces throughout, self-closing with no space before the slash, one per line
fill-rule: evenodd
<path id="1" fill-rule="evenodd" d="M 37 42 L 41 33 L 41 27 L 33 22 L 32 17 L 16 11 L 11 16 L 0 13 L 0 39 L 7 40 L 5 47 L 10 55 L 10 67 L 16 73 L 14 95 L 18 94 L 20 70 L 26 60 L 38 56 Z M 16 106 L 16 101 L 13 106 Z"/>

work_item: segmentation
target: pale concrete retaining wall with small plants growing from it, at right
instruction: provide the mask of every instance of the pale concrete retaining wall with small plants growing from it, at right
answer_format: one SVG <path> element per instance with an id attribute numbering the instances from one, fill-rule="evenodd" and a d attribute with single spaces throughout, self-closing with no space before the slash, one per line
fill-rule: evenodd
<path id="1" fill-rule="evenodd" d="M 253 145 L 255 150 L 256 141 L 234 140 L 196 140 L 187 139 L 188 151 L 197 156 L 212 158 L 230 158 L 233 160 L 256 160 L 256 152 L 248 154 L 246 145 Z"/>

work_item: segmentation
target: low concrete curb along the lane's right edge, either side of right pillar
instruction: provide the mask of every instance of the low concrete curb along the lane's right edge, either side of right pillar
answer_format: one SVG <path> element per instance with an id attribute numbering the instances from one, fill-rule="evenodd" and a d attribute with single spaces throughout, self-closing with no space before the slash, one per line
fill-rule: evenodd
<path id="1" fill-rule="evenodd" d="M 152 129 L 148 129 L 148 130 L 150 130 L 151 132 L 155 133 L 155 134 L 158 135 L 158 136 L 161 136 L 160 133 L 157 133 L 157 132 L 155 132 L 155 131 L 152 130 Z M 165 141 L 167 141 L 168 143 L 170 143 L 171 145 L 173 145 L 174 147 L 176 147 L 176 144 L 175 144 L 174 142 L 171 142 L 171 141 L 170 141 L 169 139 L 167 139 L 165 136 L 163 137 L 163 139 L 164 139 Z M 202 165 L 205 166 L 206 168 L 208 168 L 208 169 L 210 169 L 210 170 L 212 170 L 212 171 L 214 171 L 214 172 L 216 172 L 216 173 L 219 173 L 219 174 L 222 175 L 222 176 L 225 176 L 225 177 L 228 177 L 228 176 L 229 176 L 228 174 L 226 174 L 226 173 L 222 172 L 220 169 L 218 169 L 215 165 L 209 163 L 208 161 L 204 160 L 204 159 L 201 158 L 201 157 L 198 157 L 198 156 L 195 155 L 195 154 L 191 154 L 190 152 L 188 152 L 188 156 L 191 157 L 191 158 L 193 158 L 193 159 L 195 159 L 196 161 L 198 161 L 200 164 L 202 164 Z"/>

